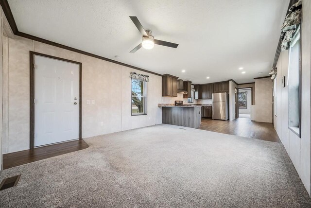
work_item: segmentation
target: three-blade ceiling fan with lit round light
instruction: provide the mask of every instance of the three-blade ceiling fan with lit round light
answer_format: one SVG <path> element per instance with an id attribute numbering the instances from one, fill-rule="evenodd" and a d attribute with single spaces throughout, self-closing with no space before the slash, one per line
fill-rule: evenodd
<path id="1" fill-rule="evenodd" d="M 137 29 L 139 30 L 139 32 L 142 35 L 141 43 L 138 46 L 136 46 L 132 51 L 130 51 L 131 53 L 137 52 L 138 49 L 140 49 L 141 47 L 143 47 L 145 49 L 152 49 L 155 46 L 155 44 L 161 45 L 161 46 L 177 48 L 178 44 L 176 44 L 176 43 L 171 43 L 171 42 L 166 42 L 166 41 L 163 41 L 163 40 L 155 39 L 154 35 L 151 34 L 151 30 L 145 30 L 142 27 L 142 25 L 139 22 L 137 17 L 130 16 L 130 18 L 132 19 L 132 21 L 134 22 L 135 26 L 137 27 Z"/>

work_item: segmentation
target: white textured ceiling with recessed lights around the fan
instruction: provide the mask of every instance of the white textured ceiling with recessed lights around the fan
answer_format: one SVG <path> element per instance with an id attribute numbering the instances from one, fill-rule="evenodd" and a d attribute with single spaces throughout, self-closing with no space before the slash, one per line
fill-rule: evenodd
<path id="1" fill-rule="evenodd" d="M 289 4 L 289 0 L 8 2 L 20 32 L 196 84 L 228 79 L 247 83 L 267 76 Z M 156 39 L 178 43 L 178 48 L 155 45 L 129 53 L 141 42 L 129 16 L 137 16 Z"/>

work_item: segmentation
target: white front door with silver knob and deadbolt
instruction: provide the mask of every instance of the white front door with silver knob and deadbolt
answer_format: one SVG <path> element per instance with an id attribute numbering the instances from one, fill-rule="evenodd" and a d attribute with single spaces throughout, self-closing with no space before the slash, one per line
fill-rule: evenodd
<path id="1" fill-rule="evenodd" d="M 79 139 L 79 69 L 35 55 L 35 147 Z"/>

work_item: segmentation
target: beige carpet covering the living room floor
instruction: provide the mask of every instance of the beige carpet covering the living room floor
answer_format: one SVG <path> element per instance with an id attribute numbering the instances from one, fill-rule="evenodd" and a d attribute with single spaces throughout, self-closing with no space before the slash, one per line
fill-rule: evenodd
<path id="1" fill-rule="evenodd" d="M 311 200 L 282 144 L 157 125 L 4 170 L 2 208 L 295 208 Z"/>

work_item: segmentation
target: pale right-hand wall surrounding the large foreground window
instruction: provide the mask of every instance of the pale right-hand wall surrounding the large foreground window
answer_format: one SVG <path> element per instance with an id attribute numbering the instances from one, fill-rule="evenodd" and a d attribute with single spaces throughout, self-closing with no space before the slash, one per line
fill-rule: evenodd
<path id="1" fill-rule="evenodd" d="M 311 1 L 302 2 L 301 24 L 301 138 L 288 129 L 288 87 L 277 85 L 276 130 L 308 193 L 311 193 Z M 288 51 L 281 52 L 277 78 L 288 72 Z M 279 82 L 279 81 L 277 81 Z M 279 112 L 279 109 L 277 109 Z M 279 127 L 280 126 L 280 127 Z"/>

